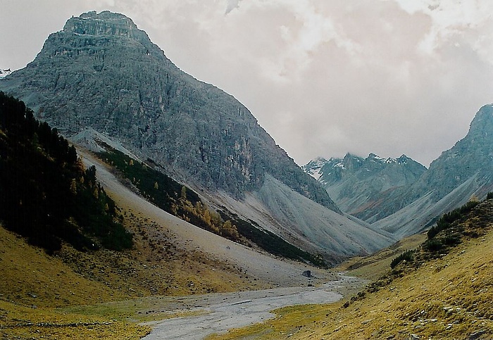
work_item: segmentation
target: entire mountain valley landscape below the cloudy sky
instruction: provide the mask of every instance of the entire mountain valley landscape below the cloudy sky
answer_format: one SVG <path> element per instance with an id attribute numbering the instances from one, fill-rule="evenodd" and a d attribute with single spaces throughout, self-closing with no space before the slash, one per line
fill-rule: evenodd
<path id="1" fill-rule="evenodd" d="M 0 72 L 0 335 L 492 339 L 492 170 L 493 104 L 429 168 L 300 168 L 130 18 L 82 13 Z"/>

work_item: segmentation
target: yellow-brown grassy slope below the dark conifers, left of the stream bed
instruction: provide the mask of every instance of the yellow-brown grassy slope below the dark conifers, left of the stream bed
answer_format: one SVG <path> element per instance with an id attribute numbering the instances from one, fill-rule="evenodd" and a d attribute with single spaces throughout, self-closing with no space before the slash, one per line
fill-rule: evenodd
<path id="1" fill-rule="evenodd" d="M 173 246 L 166 228 L 130 207 L 132 250 L 81 253 L 66 244 L 54 256 L 0 227 L 0 337 L 5 339 L 140 339 L 149 327 L 147 296 L 261 288 L 228 263 Z M 153 239 L 156 229 L 167 238 Z M 113 301 L 113 302 L 112 302 Z M 131 319 L 131 321 L 130 321 Z"/>

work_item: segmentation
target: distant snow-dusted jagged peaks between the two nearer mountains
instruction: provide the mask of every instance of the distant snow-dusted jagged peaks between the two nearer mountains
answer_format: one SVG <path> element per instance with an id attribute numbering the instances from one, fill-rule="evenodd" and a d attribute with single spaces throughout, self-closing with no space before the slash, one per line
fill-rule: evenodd
<path id="1" fill-rule="evenodd" d="M 384 159 L 374 153 L 367 158 L 347 153 L 344 158 L 318 158 L 305 165 L 304 170 L 318 178 L 345 213 L 375 222 L 385 198 L 416 182 L 426 168 L 405 155 Z"/>

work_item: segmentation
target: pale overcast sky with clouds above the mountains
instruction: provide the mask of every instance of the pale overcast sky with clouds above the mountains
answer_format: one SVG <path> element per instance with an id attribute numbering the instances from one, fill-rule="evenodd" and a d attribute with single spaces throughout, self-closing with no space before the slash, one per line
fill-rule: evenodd
<path id="1" fill-rule="evenodd" d="M 299 165 L 373 152 L 428 166 L 493 102 L 489 0 L 0 0 L 0 68 L 92 10 L 132 18 Z"/>

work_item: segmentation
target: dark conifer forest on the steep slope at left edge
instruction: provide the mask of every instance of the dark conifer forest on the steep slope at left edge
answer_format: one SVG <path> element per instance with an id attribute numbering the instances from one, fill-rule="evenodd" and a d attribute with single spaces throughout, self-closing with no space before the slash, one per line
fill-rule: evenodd
<path id="1" fill-rule="evenodd" d="M 53 253 L 132 247 L 117 208 L 85 169 L 74 146 L 23 101 L 0 92 L 0 220 L 30 244 Z"/>

